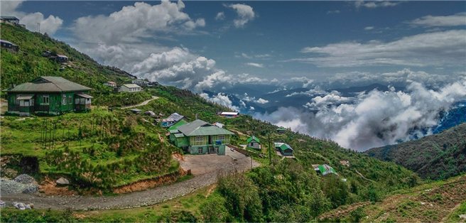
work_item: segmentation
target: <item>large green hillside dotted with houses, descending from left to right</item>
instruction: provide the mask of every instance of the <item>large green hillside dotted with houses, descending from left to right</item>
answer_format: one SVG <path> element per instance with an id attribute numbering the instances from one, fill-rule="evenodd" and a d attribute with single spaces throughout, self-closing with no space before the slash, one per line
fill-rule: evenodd
<path id="1" fill-rule="evenodd" d="M 183 205 L 183 212 L 167 210 L 163 212 L 163 217 L 153 219 L 144 219 L 150 214 L 142 214 L 142 217 L 139 214 L 133 221 L 308 222 L 336 207 L 354 202 L 380 202 L 391 192 L 406 190 L 421 183 L 418 175 L 411 170 L 341 148 L 333 141 L 293 131 L 278 134 L 278 126 L 253 119 L 250 115 L 235 118 L 217 116 L 216 112 L 229 109 L 207 102 L 189 90 L 158 85 L 140 94 L 111 94 L 100 83 L 107 80 L 124 82 L 127 78 L 125 75 L 98 65 L 65 43 L 20 28 L 0 25 L 0 38 L 10 40 L 27 53 L 11 54 L 0 50 L 0 74 L 6 77 L 1 80 L 2 87 L 8 87 L 9 82 L 26 82 L 39 75 L 58 75 L 94 87 L 92 94 L 97 95 L 94 105 L 113 106 L 114 99 L 121 104 L 156 96 L 158 99 L 138 108 L 156 114 L 178 112 L 190 121 L 196 117 L 210 123 L 218 121 L 225 124 L 226 129 L 254 135 L 263 143 L 261 153 L 249 152 L 252 158 L 261 163 L 261 167 L 247 173 L 224 175 L 215 191 L 208 196 L 200 195 L 203 198 L 199 199 L 198 208 Z M 45 49 L 69 56 L 73 66 L 65 68 L 63 72 L 58 71 L 60 65 L 40 56 Z M 125 95 L 134 98 L 127 100 Z M 178 170 L 178 162 L 171 158 L 171 153 L 183 151 L 175 148 L 167 138 L 161 141 L 159 135 L 164 137 L 166 130 L 153 126 L 153 121 L 153 117 L 132 114 L 129 109 L 109 112 L 97 108 L 87 114 L 33 116 L 32 119 L 6 116 L 0 118 L 0 157 L 13 157 L 12 160 L 36 158 L 39 171 L 35 177 L 38 180 L 67 175 L 78 187 L 77 190 L 110 192 L 111 187 Z M 294 149 L 296 158 L 278 157 L 266 143 L 269 135 L 272 145 L 273 141 L 288 143 Z M 237 134 L 232 138 L 232 144 L 239 146 L 246 143 L 247 138 Z M 271 157 L 268 157 L 269 150 L 272 151 Z M 340 161 L 348 161 L 349 165 Z M 313 164 L 330 165 L 338 175 L 318 175 Z M 15 162 L 7 167 L 18 173 L 24 171 Z M 0 177 L 4 174 L 1 173 Z M 60 218 L 45 219 L 41 212 L 43 218 L 38 216 L 36 219 L 33 215 L 35 212 L 29 213 L 28 221 L 60 221 Z M 64 214 L 67 214 L 67 218 L 61 221 L 77 220 L 72 218 L 70 212 Z M 0 214 L 0 219 L 18 221 L 17 218 L 9 218 L 13 215 Z M 124 221 L 116 218 L 90 220 Z"/>

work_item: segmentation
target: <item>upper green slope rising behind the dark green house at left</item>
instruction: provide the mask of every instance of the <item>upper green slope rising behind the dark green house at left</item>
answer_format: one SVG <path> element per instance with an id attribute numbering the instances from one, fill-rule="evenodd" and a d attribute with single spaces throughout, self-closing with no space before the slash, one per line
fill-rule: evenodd
<path id="1" fill-rule="evenodd" d="M 0 89 L 8 88 L 12 82 L 18 85 L 39 76 L 60 76 L 80 85 L 92 87 L 94 105 L 121 107 L 151 98 L 145 92 L 112 94 L 112 88 L 102 83 L 114 81 L 121 85 L 130 82 L 126 72 L 115 67 L 99 65 L 88 55 L 78 52 L 66 43 L 3 23 L 0 23 L 0 39 L 9 40 L 21 50 L 20 53 L 12 54 L 0 49 Z M 60 72 L 62 65 L 43 58 L 44 50 L 67 55 L 70 60 L 69 66 L 65 66 L 65 70 Z M 5 92 L 0 91 L 0 98 L 5 95 Z"/>

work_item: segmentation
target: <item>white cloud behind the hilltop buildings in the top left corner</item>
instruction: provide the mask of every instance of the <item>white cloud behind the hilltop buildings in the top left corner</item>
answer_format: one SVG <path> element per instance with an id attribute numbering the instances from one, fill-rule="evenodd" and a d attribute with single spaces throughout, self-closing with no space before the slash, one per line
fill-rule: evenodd
<path id="1" fill-rule="evenodd" d="M 63 25 L 63 19 L 58 16 L 48 16 L 45 18 L 43 13 L 25 13 L 18 11 L 18 7 L 26 0 L 2 1 L 1 7 L 4 14 L 16 16 L 22 24 L 30 31 L 37 31 L 37 23 L 40 24 L 40 33 L 47 33 L 52 36 Z"/>

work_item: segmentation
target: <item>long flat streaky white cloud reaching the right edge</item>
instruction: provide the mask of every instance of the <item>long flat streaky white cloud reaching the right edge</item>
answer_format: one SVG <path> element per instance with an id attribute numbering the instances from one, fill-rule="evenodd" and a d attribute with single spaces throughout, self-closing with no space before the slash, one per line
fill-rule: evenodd
<path id="1" fill-rule="evenodd" d="M 331 43 L 323 47 L 303 48 L 302 53 L 313 53 L 314 56 L 292 60 L 310 62 L 318 67 L 464 66 L 465 36 L 465 30 L 452 30 L 408 36 L 389 43 L 379 40 Z"/>

